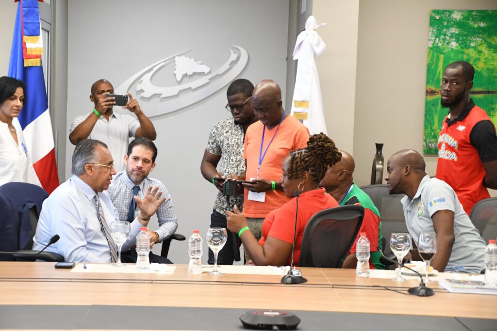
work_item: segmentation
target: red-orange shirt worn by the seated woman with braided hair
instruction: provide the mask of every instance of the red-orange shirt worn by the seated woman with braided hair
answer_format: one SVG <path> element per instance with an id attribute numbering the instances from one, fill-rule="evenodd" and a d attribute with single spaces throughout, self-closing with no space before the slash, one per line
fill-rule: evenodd
<path id="1" fill-rule="evenodd" d="M 273 237 L 279 240 L 293 243 L 293 229 L 295 226 L 295 209 L 297 204 L 295 198 L 285 203 L 281 208 L 271 211 L 262 223 L 262 238 L 259 244 L 264 246 L 267 237 Z M 299 264 L 300 250 L 302 247 L 302 238 L 304 230 L 309 219 L 321 210 L 338 207 L 331 195 L 325 192 L 324 188 L 307 191 L 299 197 L 299 213 L 297 216 L 297 230 L 295 236 L 295 259 L 294 265 Z M 292 256 L 288 258 L 290 265 Z"/>

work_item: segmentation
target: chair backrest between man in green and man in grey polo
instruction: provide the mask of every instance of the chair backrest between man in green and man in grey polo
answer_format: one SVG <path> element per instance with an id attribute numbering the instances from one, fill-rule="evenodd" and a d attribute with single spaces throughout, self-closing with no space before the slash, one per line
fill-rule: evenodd
<path id="1" fill-rule="evenodd" d="M 385 184 L 361 186 L 361 189 L 373 200 L 376 208 L 380 211 L 381 233 L 385 239 L 382 243 L 382 248 L 385 254 L 389 254 L 391 252 L 390 245 L 388 244 L 390 235 L 393 232 L 408 232 L 401 203 L 401 199 L 405 195 L 391 195 Z"/>

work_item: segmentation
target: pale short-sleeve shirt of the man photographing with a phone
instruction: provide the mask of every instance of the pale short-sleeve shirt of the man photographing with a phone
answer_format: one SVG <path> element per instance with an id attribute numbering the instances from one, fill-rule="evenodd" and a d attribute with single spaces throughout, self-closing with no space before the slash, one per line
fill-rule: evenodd
<path id="1" fill-rule="evenodd" d="M 71 131 L 76 129 L 92 112 L 78 116 L 71 124 Z M 128 114 L 113 113 L 109 121 L 100 116 L 88 138 L 104 142 L 114 158 L 114 167 L 119 172 L 124 170 L 124 155 L 128 151 L 129 138 L 134 137 L 136 130 L 140 128 L 140 122 Z"/>

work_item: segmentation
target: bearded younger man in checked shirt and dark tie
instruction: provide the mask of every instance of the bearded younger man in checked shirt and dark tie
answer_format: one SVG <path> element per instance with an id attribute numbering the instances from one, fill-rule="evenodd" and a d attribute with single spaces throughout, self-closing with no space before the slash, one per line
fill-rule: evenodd
<path id="1" fill-rule="evenodd" d="M 132 222 L 140 212 L 139 208 L 136 208 L 133 196 L 136 195 L 143 199 L 148 187 L 159 187 L 159 191 L 162 192 L 162 198 L 166 198 L 166 201 L 157 210 L 159 229 L 147 231 L 150 236 L 151 247 L 170 237 L 178 227 L 171 197 L 166 187 L 161 181 L 148 177 L 149 173 L 155 168 L 156 157 L 157 147 L 150 139 L 139 137 L 131 141 L 128 146 L 128 153 L 124 155 L 126 168 L 116 174 L 107 190 L 112 204 L 117 208 L 119 219 Z M 134 256 L 134 252 L 132 256 Z M 150 262 L 170 263 L 170 261 L 165 261 L 167 259 L 163 259 L 151 253 Z"/>

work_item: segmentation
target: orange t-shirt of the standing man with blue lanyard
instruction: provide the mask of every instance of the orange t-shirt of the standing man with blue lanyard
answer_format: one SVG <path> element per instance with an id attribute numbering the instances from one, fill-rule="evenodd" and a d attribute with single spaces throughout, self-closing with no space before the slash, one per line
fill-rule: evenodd
<path id="1" fill-rule="evenodd" d="M 276 127 L 272 130 L 264 128 L 260 122 L 255 122 L 248 127 L 245 134 L 244 159 L 247 160 L 247 173 L 245 178 L 257 178 L 257 166 L 259 164 L 260 142 L 262 140 L 262 130 L 264 142 L 262 154 L 276 132 Z M 266 155 L 260 164 L 259 178 L 278 182 L 281 178 L 283 160 L 292 151 L 307 147 L 309 141 L 309 130 L 293 116 L 288 115 L 274 135 L 274 139 L 267 149 Z M 264 202 L 248 199 L 248 190 L 244 192 L 244 215 L 246 217 L 262 218 L 274 209 L 277 209 L 288 201 L 283 191 L 267 191 Z"/>

